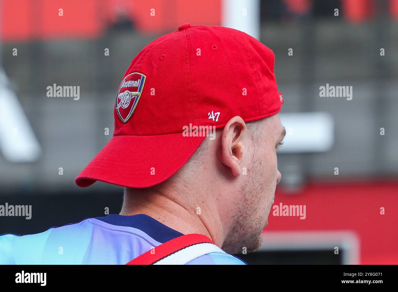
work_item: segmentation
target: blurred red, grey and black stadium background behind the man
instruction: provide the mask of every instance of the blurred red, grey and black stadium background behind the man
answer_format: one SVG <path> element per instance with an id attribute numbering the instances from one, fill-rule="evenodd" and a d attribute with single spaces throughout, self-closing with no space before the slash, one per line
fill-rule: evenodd
<path id="1" fill-rule="evenodd" d="M 0 234 L 119 213 L 121 187 L 74 178 L 111 139 L 133 57 L 185 22 L 244 30 L 275 53 L 288 130 L 275 205 L 306 205 L 306 219 L 271 210 L 263 247 L 242 258 L 398 264 L 398 0 L 0 0 L 0 205 L 32 205 L 30 220 L 0 217 Z M 80 99 L 47 97 L 54 83 Z M 327 83 L 353 99 L 320 97 Z"/>

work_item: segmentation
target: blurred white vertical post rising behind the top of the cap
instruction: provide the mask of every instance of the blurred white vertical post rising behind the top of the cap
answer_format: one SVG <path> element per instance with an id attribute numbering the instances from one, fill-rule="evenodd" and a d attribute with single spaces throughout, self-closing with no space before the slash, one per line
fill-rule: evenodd
<path id="1" fill-rule="evenodd" d="M 221 6 L 222 26 L 238 29 L 256 39 L 259 39 L 259 0 L 222 0 Z"/>

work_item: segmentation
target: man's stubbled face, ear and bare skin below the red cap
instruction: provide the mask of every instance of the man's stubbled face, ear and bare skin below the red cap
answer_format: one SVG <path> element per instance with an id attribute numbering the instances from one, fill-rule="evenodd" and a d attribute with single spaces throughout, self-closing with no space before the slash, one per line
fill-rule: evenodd
<path id="1" fill-rule="evenodd" d="M 151 191 L 177 193 L 170 199 L 188 205 L 195 216 L 218 216 L 226 252 L 254 251 L 261 245 L 281 180 L 276 152 L 285 133 L 278 114 L 248 123 L 235 116 L 216 131 L 214 140 L 207 137 L 174 176 Z M 134 190 L 126 194 L 133 200 L 137 195 Z"/>

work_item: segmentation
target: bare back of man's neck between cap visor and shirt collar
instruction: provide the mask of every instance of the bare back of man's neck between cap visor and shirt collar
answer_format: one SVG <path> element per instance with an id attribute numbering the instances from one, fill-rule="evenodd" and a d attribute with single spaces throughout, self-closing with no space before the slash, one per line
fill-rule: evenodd
<path id="1" fill-rule="evenodd" d="M 209 205 L 207 200 L 188 204 L 186 198 L 178 193 L 127 189 L 120 215 L 146 214 L 182 234 L 203 234 L 221 247 L 224 230 L 216 204 Z"/>

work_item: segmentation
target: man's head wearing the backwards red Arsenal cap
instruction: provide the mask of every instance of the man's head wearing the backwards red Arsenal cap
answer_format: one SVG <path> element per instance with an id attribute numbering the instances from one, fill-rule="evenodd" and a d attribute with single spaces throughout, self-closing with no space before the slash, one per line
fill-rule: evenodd
<path id="1" fill-rule="evenodd" d="M 180 232 L 256 249 L 280 179 L 274 64 L 272 50 L 226 27 L 185 23 L 154 40 L 119 85 L 113 138 L 76 184 L 124 186 L 123 214 L 185 216 Z M 195 127 L 217 129 L 216 139 Z"/>

